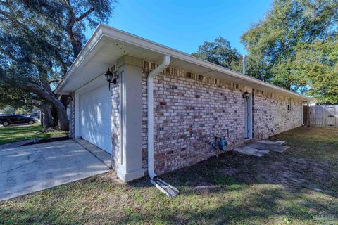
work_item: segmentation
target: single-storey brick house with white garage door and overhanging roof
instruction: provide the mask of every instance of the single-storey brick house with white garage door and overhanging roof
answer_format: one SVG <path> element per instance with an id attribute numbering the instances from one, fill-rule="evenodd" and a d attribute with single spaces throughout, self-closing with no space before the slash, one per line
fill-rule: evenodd
<path id="1" fill-rule="evenodd" d="M 111 90 L 108 67 L 118 70 Z M 124 181 L 206 160 L 215 155 L 215 136 L 231 150 L 299 127 L 309 100 L 106 25 L 55 92 L 71 96 L 70 136 L 111 153 Z"/>

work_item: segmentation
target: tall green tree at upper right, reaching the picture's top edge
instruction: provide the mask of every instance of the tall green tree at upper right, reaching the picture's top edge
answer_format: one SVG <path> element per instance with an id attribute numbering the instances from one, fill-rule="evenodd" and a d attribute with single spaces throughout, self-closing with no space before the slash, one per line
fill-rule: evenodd
<path id="1" fill-rule="evenodd" d="M 337 8 L 337 0 L 275 0 L 265 19 L 252 25 L 242 41 L 273 84 L 304 91 L 313 75 L 295 68 L 299 45 L 337 35 Z"/>

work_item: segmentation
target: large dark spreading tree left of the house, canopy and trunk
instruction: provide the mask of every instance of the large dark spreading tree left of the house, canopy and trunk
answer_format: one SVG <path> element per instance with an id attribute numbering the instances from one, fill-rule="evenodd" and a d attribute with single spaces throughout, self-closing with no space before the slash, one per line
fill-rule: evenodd
<path id="1" fill-rule="evenodd" d="M 51 83 L 65 75 L 84 44 L 86 25 L 106 22 L 114 0 L 0 1 L 0 94 L 10 103 L 55 108 L 58 127 L 68 129 L 63 102 Z M 25 92 L 20 96 L 20 91 Z M 23 98 L 23 96 L 25 96 Z M 43 108 L 43 106 L 45 108 Z M 48 123 L 48 122 L 47 122 Z"/>

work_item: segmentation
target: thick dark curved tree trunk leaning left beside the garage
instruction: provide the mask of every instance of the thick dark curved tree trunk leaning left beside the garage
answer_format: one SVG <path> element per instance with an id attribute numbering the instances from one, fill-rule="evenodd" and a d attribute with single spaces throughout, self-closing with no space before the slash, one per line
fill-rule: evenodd
<path id="1" fill-rule="evenodd" d="M 61 131 L 68 131 L 68 117 L 67 117 L 67 110 L 65 105 L 54 96 L 54 94 L 50 93 L 49 91 L 44 90 L 41 86 L 37 84 L 32 84 L 30 82 L 26 82 L 23 84 L 23 89 L 26 91 L 32 91 L 34 94 L 37 94 L 45 101 L 50 103 L 55 109 L 58 114 L 58 128 Z"/>

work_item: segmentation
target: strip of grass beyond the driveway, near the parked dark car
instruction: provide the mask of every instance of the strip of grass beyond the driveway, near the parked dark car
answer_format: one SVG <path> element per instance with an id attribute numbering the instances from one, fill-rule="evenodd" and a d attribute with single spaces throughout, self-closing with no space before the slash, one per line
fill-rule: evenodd
<path id="1" fill-rule="evenodd" d="M 51 136 L 65 134 L 64 131 L 42 132 L 42 126 L 33 124 L 20 127 L 0 127 L 0 145 L 26 139 L 49 139 Z"/>

